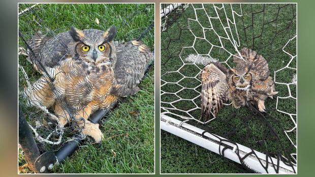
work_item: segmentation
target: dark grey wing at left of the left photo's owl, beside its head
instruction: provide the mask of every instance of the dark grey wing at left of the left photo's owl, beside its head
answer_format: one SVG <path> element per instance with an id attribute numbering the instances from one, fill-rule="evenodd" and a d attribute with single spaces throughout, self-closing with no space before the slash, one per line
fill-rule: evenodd
<path id="1" fill-rule="evenodd" d="M 54 67 L 69 53 L 68 45 L 72 42 L 69 32 L 62 32 L 55 37 L 48 37 L 40 32 L 28 40 L 29 60 L 35 69 L 42 73 L 43 67 Z"/>

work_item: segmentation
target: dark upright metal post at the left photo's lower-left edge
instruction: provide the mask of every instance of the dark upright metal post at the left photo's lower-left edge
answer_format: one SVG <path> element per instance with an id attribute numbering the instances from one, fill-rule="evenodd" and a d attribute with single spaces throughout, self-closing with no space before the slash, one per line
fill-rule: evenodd
<path id="1" fill-rule="evenodd" d="M 24 152 L 24 158 L 29 169 L 38 172 L 34 166 L 35 160 L 40 156 L 40 152 L 30 132 L 23 111 L 19 105 L 19 144 Z"/>

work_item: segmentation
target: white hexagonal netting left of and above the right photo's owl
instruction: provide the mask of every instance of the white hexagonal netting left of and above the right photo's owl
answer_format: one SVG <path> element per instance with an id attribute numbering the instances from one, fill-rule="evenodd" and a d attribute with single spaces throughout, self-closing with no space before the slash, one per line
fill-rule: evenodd
<path id="1" fill-rule="evenodd" d="M 180 58 L 181 62 L 183 63 L 183 65 L 180 66 L 180 67 L 179 67 L 177 70 L 175 70 L 175 71 L 167 72 L 167 74 L 170 74 L 170 73 L 179 73 L 179 74 L 182 76 L 182 78 L 181 78 L 180 80 L 178 80 L 177 82 L 173 82 L 173 83 L 172 83 L 172 82 L 167 82 L 167 81 L 161 79 L 161 81 L 164 81 L 164 82 L 165 82 L 164 84 L 161 85 L 161 87 L 164 86 L 164 85 L 166 85 L 166 84 L 177 84 L 178 86 L 182 87 L 182 86 L 179 85 L 178 83 L 181 82 L 182 80 L 186 79 L 186 78 L 195 78 L 195 79 L 197 79 L 197 80 L 200 82 L 200 85 L 201 85 L 201 81 L 198 79 L 198 75 L 199 75 L 199 74 L 197 74 L 197 75 L 194 76 L 194 77 L 187 77 L 187 76 L 184 76 L 183 74 L 181 74 L 181 73 L 179 72 L 179 70 L 181 70 L 183 67 L 185 67 L 185 65 L 193 64 L 193 65 L 195 65 L 195 66 L 200 70 L 200 72 L 201 72 L 201 70 L 202 70 L 203 68 L 200 68 L 197 64 L 206 65 L 206 64 L 209 63 L 210 61 L 217 61 L 217 59 L 212 58 L 212 57 L 210 56 L 210 53 L 211 53 L 211 51 L 212 51 L 212 49 L 213 49 L 214 47 L 219 48 L 220 50 L 222 49 L 222 50 L 224 50 L 224 51 L 226 51 L 226 52 L 228 52 L 228 53 L 230 54 L 230 56 L 227 58 L 227 60 L 226 60 L 226 61 L 223 61 L 222 63 L 225 63 L 226 65 L 228 65 L 228 66 L 231 68 L 231 66 L 228 64 L 228 61 L 229 61 L 230 58 L 233 58 L 233 56 L 236 56 L 236 55 L 234 55 L 233 53 L 231 53 L 231 52 L 229 52 L 228 50 L 225 49 L 224 43 L 222 42 L 222 39 L 225 39 L 225 40 L 230 41 L 230 42 L 233 44 L 234 48 L 235 48 L 235 51 L 233 51 L 233 52 L 234 52 L 234 53 L 237 52 L 237 53 L 238 53 L 238 56 L 241 56 L 240 53 L 239 53 L 239 50 L 237 49 L 237 47 L 240 46 L 240 40 L 239 40 L 238 33 L 237 33 L 237 28 L 236 28 L 236 22 L 235 22 L 234 14 L 236 14 L 237 16 L 241 16 L 242 14 L 238 14 L 236 11 L 233 10 L 233 8 L 232 8 L 232 6 L 231 6 L 231 8 L 232 8 L 232 13 L 233 13 L 233 20 L 227 19 L 227 22 L 228 22 L 229 25 L 228 25 L 227 27 L 225 27 L 225 26 L 223 25 L 223 22 L 222 22 L 221 19 L 219 18 L 218 12 L 217 12 L 217 9 L 219 9 L 219 10 L 220 10 L 220 9 L 224 9 L 225 15 L 226 15 L 226 10 L 225 10 L 225 8 L 224 8 L 224 5 L 223 5 L 223 7 L 221 7 L 221 8 L 218 8 L 218 7 L 216 7 L 215 5 L 213 5 L 213 7 L 214 7 L 214 9 L 215 9 L 215 12 L 216 12 L 216 14 L 217 14 L 217 17 L 209 17 L 208 14 L 207 14 L 208 19 L 209 19 L 209 22 L 210 22 L 210 26 L 211 26 L 211 28 L 207 28 L 207 27 L 203 27 L 202 24 L 198 21 L 197 12 L 196 12 L 196 10 L 204 9 L 204 6 L 202 5 L 202 8 L 195 8 L 192 4 L 188 4 L 188 5 L 191 5 L 191 6 L 194 8 L 194 11 L 195 11 L 196 19 L 191 19 L 191 18 L 188 18 L 188 19 L 187 19 L 187 20 L 188 20 L 188 28 L 190 29 L 190 32 L 193 34 L 193 36 L 195 37 L 195 39 L 194 39 L 194 42 L 193 42 L 193 45 L 192 45 L 192 46 L 190 46 L 190 47 L 183 47 L 182 50 L 181 50 L 181 52 L 180 52 L 180 54 L 179 54 L 179 58 Z M 187 8 L 188 5 L 186 5 L 186 8 Z M 226 15 L 226 17 L 227 17 L 227 15 Z M 167 16 L 165 16 L 165 18 L 167 18 Z M 218 32 L 213 28 L 212 22 L 211 22 L 211 20 L 210 20 L 210 19 L 212 19 L 212 18 L 218 19 L 218 20 L 220 21 L 220 24 L 222 25 L 223 29 L 225 30 L 225 33 L 226 33 L 226 35 L 227 35 L 227 38 L 220 37 L 219 34 L 218 34 Z M 194 34 L 194 32 L 191 30 L 191 27 L 190 27 L 190 20 L 194 20 L 194 21 L 198 22 L 199 25 L 203 28 L 203 36 L 204 36 L 204 38 L 197 37 L 197 36 Z M 233 21 L 233 22 L 232 22 L 232 21 Z M 232 30 L 231 30 L 231 27 L 230 27 L 230 23 L 235 26 L 236 34 L 237 34 L 237 37 L 238 37 L 238 38 L 237 38 L 237 41 L 235 41 L 234 38 L 233 38 Z M 163 25 L 165 25 L 165 24 L 163 24 Z M 229 30 L 227 30 L 227 29 L 229 29 Z M 216 45 L 212 44 L 210 41 L 208 41 L 208 40 L 206 39 L 206 36 L 205 36 L 205 30 L 213 30 L 214 33 L 216 34 L 216 36 L 218 37 L 218 40 L 219 40 L 221 46 L 216 46 Z M 232 37 L 230 37 L 230 36 L 232 36 Z M 197 39 L 206 40 L 206 41 L 211 45 L 211 48 L 210 48 L 210 50 L 209 50 L 209 52 L 208 52 L 207 55 L 198 54 L 197 50 L 194 48 L 194 46 L 196 45 L 196 40 L 197 40 Z M 196 55 L 189 55 L 189 56 L 188 56 L 187 58 L 185 58 L 184 60 L 185 60 L 185 61 L 188 61 L 188 62 L 191 62 L 191 61 L 195 60 L 195 62 L 186 63 L 186 62 L 182 59 L 182 56 L 181 56 L 181 55 L 182 55 L 182 52 L 183 52 L 183 50 L 184 50 L 185 48 L 193 48 L 193 49 L 195 50 L 195 52 L 196 52 L 198 55 L 197 55 L 197 56 L 196 56 Z M 236 56 L 236 57 L 238 57 L 238 56 Z M 196 57 L 196 58 L 194 59 L 194 57 Z M 200 105 L 197 105 L 197 104 L 195 103 L 195 101 L 193 101 L 193 100 L 197 99 L 199 96 L 196 96 L 196 97 L 193 98 L 193 99 L 183 99 L 183 98 L 180 98 L 180 96 L 178 96 L 178 93 L 180 93 L 180 91 L 182 91 L 182 90 L 184 90 L 184 89 L 192 89 L 192 90 L 198 92 L 199 94 L 201 94 L 201 92 L 200 92 L 199 90 L 197 90 L 197 88 L 200 87 L 200 85 L 198 85 L 198 86 L 195 87 L 195 88 L 185 88 L 185 87 L 182 87 L 180 90 L 178 90 L 178 91 L 175 92 L 175 93 L 172 93 L 172 92 L 165 92 L 165 91 L 161 90 L 161 96 L 162 96 L 163 94 L 173 94 L 173 95 L 176 95 L 176 96 L 179 98 L 179 99 L 177 99 L 177 100 L 175 100 L 175 101 L 173 101 L 173 102 L 165 102 L 165 101 L 161 100 L 161 103 L 168 103 L 168 104 L 171 104 L 171 105 L 172 105 L 172 108 L 164 108 L 164 107 L 162 107 L 162 109 L 165 110 L 166 113 L 168 113 L 168 114 L 172 114 L 172 115 L 175 115 L 175 116 L 179 116 L 179 117 L 181 117 L 181 118 L 183 118 L 183 119 L 193 119 L 193 120 L 195 120 L 195 121 L 197 121 L 197 122 L 200 122 L 200 123 L 202 123 L 202 124 L 206 124 L 206 123 L 208 123 L 208 122 L 214 120 L 215 117 L 214 117 L 214 114 L 213 114 L 212 112 L 211 112 L 211 114 L 212 114 L 213 118 L 210 119 L 210 120 L 208 120 L 208 121 L 206 121 L 206 122 L 202 122 L 202 121 L 196 119 L 193 115 L 191 115 L 191 114 L 189 113 L 189 112 L 192 112 L 192 111 L 201 109 Z M 187 111 L 177 109 L 177 108 L 173 105 L 173 103 L 176 103 L 176 102 L 182 101 L 182 100 L 192 101 L 192 102 L 195 104 L 196 107 L 195 107 L 195 108 L 192 108 L 192 109 L 190 109 L 190 110 L 187 110 Z M 225 104 L 225 105 L 230 105 L 231 103 L 228 103 L 228 104 L 227 104 L 227 103 L 224 103 L 224 104 Z M 190 117 L 180 116 L 180 115 L 177 115 L 177 114 L 174 114 L 174 113 L 170 112 L 169 110 L 173 110 L 173 111 L 176 110 L 176 111 L 184 112 L 184 113 L 186 113 L 187 115 L 189 115 Z M 164 113 L 164 114 L 166 114 L 166 113 Z"/>

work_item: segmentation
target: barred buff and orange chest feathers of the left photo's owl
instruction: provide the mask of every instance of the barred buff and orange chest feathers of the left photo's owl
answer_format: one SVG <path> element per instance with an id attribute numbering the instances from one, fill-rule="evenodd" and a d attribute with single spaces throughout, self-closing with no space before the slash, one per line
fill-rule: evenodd
<path id="1" fill-rule="evenodd" d="M 65 61 L 61 64 L 65 75 L 63 85 L 65 98 L 75 109 L 85 108 L 88 104 L 95 109 L 109 107 L 110 96 L 115 79 L 111 65 L 93 65 L 85 62 Z"/>

